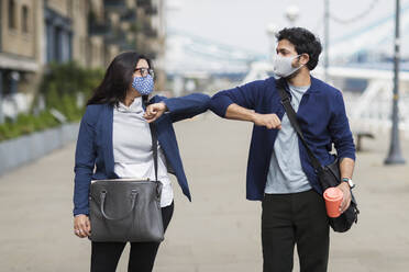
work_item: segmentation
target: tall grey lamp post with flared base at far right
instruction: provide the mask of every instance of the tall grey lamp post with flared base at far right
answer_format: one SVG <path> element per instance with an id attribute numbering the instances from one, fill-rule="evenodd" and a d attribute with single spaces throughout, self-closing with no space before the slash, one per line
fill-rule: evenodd
<path id="1" fill-rule="evenodd" d="M 405 159 L 401 156 L 399 143 L 399 61 L 400 61 L 400 1 L 396 0 L 396 16 L 395 16 L 395 56 L 394 56 L 394 98 L 393 98 L 393 115 L 391 115 L 391 134 L 389 155 L 385 160 L 385 165 L 401 165 Z"/>

